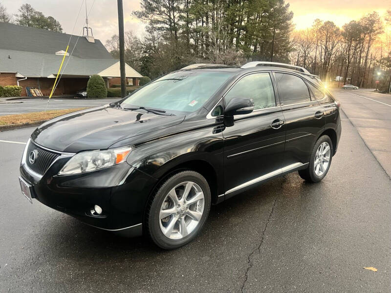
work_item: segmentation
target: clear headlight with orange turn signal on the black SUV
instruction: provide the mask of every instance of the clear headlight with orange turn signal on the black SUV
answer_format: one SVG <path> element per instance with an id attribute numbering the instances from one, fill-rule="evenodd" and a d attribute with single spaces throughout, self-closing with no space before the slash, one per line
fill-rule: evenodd
<path id="1" fill-rule="evenodd" d="M 82 151 L 74 155 L 60 170 L 59 175 L 96 171 L 125 162 L 133 146 L 107 150 Z"/>

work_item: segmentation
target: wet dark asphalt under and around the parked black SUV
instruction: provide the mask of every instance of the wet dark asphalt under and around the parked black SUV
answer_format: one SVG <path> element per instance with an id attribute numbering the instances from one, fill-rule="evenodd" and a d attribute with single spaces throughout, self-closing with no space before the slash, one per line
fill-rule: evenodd
<path id="1" fill-rule="evenodd" d="M 390 178 L 345 115 L 342 125 L 321 183 L 292 173 L 237 195 L 175 251 L 31 205 L 17 180 L 24 146 L 0 142 L 0 292 L 391 292 Z"/>

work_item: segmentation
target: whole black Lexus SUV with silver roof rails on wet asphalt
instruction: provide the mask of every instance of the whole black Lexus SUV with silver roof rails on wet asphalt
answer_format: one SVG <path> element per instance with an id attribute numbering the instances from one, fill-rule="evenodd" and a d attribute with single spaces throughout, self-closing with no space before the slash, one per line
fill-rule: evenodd
<path id="1" fill-rule="evenodd" d="M 340 135 L 339 103 L 302 67 L 195 64 L 39 126 L 20 183 L 30 201 L 174 249 L 211 204 L 296 170 L 322 180 Z"/>

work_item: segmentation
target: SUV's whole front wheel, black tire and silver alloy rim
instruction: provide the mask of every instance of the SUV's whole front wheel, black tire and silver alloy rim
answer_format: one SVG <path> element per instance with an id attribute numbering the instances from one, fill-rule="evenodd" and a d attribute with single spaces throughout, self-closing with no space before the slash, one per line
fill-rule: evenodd
<path id="1" fill-rule="evenodd" d="M 192 241 L 208 217 L 210 190 L 205 178 L 183 171 L 166 180 L 156 192 L 148 213 L 152 240 L 163 249 Z"/>

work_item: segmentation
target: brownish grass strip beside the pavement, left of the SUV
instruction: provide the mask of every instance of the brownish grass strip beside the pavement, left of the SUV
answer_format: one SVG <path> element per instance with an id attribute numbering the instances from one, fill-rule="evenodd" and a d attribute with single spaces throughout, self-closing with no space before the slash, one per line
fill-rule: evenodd
<path id="1" fill-rule="evenodd" d="M 34 122 L 43 122 L 55 118 L 57 116 L 61 116 L 64 114 L 68 114 L 83 109 L 86 108 L 49 110 L 49 111 L 42 111 L 42 112 L 5 115 L 5 116 L 0 116 L 0 125 L 23 125 L 23 124 L 31 124 Z"/>

